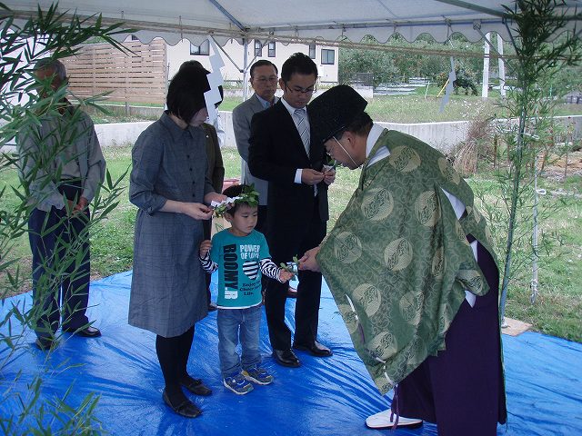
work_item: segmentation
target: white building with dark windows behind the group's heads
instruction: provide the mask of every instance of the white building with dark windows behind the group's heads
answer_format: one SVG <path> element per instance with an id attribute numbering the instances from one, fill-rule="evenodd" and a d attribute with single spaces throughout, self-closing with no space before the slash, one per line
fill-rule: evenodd
<path id="1" fill-rule="evenodd" d="M 222 51 L 220 55 L 223 58 L 225 67 L 222 68 L 223 78 L 226 83 L 231 82 L 233 85 L 241 84 L 245 79 L 241 70 L 244 67 L 245 47 L 240 45 L 237 41 L 231 40 L 223 49 L 226 54 L 230 56 L 232 61 L 228 59 Z M 212 48 L 208 40 L 202 45 L 192 45 L 186 39 L 180 41 L 176 45 L 167 46 L 167 63 L 168 63 L 168 78 L 172 78 L 176 74 L 180 65 L 189 60 L 196 60 L 203 64 L 207 69 L 211 70 L 209 54 L 212 54 Z M 329 47 L 324 45 L 304 45 L 304 44 L 289 44 L 284 45 L 279 42 L 270 42 L 265 46 L 260 41 L 250 41 L 247 45 L 247 62 L 250 66 L 259 59 L 266 59 L 276 64 L 276 67 L 281 72 L 281 66 L 286 59 L 294 53 L 302 52 L 308 54 L 317 65 L 319 73 L 319 84 L 332 85 L 337 84 L 337 47 Z M 248 77 L 248 74 L 246 75 Z"/>

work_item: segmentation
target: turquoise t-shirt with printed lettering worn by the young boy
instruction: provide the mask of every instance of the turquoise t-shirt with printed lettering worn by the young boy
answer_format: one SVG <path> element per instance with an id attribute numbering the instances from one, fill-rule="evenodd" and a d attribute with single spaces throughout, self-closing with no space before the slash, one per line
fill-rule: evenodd
<path id="1" fill-rule="evenodd" d="M 270 258 L 263 233 L 235 236 L 225 229 L 212 238 L 210 259 L 218 264 L 216 305 L 228 309 L 256 306 L 262 300 L 259 262 Z"/>

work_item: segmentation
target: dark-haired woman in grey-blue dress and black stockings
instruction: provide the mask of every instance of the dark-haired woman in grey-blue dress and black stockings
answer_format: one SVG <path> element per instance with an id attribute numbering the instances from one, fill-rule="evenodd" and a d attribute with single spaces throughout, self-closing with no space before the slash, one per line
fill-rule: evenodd
<path id="1" fill-rule="evenodd" d="M 167 92 L 167 111 L 140 134 L 132 151 L 129 199 L 135 219 L 134 272 L 129 323 L 156 333 L 156 353 L 166 387 L 163 400 L 176 413 L 200 414 L 182 387 L 211 391 L 186 372 L 195 323 L 207 314 L 205 273 L 198 261 L 206 204 L 226 197 L 206 176 L 206 74 L 178 72 Z"/>

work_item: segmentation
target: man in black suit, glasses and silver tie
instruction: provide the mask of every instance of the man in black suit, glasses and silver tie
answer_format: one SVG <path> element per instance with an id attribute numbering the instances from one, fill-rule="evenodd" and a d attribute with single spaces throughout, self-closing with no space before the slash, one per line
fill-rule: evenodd
<path id="1" fill-rule="evenodd" d="M 306 54 L 289 57 L 281 69 L 283 97 L 253 116 L 248 166 L 256 177 L 268 181 L 266 239 L 278 264 L 301 257 L 326 235 L 327 186 L 335 170 L 324 168 L 326 151 L 311 132 L 306 104 L 317 80 L 317 66 Z M 296 332 L 293 348 L 318 357 L 332 354 L 317 342 L 321 273 L 299 272 Z M 269 338 L 276 362 L 300 365 L 291 350 L 291 331 L 285 322 L 286 284 L 270 281 L 265 310 Z"/>

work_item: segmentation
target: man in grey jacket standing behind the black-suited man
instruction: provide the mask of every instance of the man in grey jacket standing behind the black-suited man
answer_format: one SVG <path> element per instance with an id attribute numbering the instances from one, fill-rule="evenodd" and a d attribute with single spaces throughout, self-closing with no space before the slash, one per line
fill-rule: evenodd
<path id="1" fill-rule="evenodd" d="M 233 128 L 235 129 L 236 148 L 242 159 L 241 183 L 255 185 L 259 202 L 256 230 L 266 233 L 266 202 L 269 183 L 254 176 L 248 169 L 248 139 L 251 135 L 253 115 L 268 109 L 279 100 L 275 96 L 279 71 L 271 61 L 262 59 L 251 65 L 250 74 L 249 83 L 255 93 L 233 110 Z M 265 278 L 265 281 L 267 280 Z M 287 296 L 295 298 L 297 296 L 296 289 L 288 286 Z"/>

